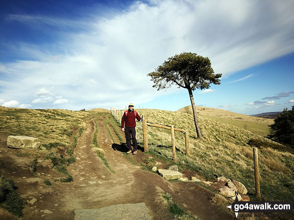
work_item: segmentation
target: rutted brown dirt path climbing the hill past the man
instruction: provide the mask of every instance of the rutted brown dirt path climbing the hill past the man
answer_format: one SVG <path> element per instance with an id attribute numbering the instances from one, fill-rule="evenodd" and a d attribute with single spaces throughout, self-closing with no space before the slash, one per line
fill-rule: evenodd
<path id="1" fill-rule="evenodd" d="M 232 219 L 210 203 L 211 192 L 194 183 L 168 182 L 159 175 L 130 163 L 123 155 L 125 147 L 119 142 L 112 143 L 101 118 L 97 121 L 97 143 L 104 151 L 109 167 L 114 171 L 110 172 L 92 145 L 94 120 L 87 121 L 86 129 L 74 149 L 76 162 L 67 168 L 73 182 L 55 182 L 51 188 L 39 186 L 37 183 L 25 185 L 30 192 L 27 192 L 27 188 L 19 189 L 20 193 L 34 195 L 38 200 L 33 206 L 27 205 L 24 209 L 25 220 L 73 220 L 76 209 L 99 209 L 128 203 L 145 203 L 153 220 L 168 220 L 170 216 L 160 200 L 159 194 L 162 192 L 171 194 L 173 202 L 201 220 Z M 120 136 L 124 137 L 121 131 Z M 117 138 L 114 140 L 118 141 Z M 144 155 L 138 151 L 137 155 L 130 157 Z"/>

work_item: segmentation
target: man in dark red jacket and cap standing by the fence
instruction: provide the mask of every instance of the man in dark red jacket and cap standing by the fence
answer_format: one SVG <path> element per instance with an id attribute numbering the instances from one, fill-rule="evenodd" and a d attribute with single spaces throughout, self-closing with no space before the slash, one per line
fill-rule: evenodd
<path id="1" fill-rule="evenodd" d="M 133 154 L 137 153 L 137 140 L 136 140 L 136 120 L 141 121 L 140 116 L 133 110 L 133 104 L 128 104 L 128 110 L 124 112 L 121 119 L 121 131 L 125 133 L 125 141 L 128 151 L 126 154 L 131 153 L 130 135 L 133 144 Z"/>

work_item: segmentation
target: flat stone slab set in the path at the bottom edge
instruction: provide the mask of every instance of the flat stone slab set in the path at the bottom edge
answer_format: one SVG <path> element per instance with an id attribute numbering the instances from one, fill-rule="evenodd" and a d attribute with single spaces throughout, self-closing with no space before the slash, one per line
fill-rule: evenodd
<path id="1" fill-rule="evenodd" d="M 74 220 L 151 220 L 144 203 L 74 210 Z"/>

